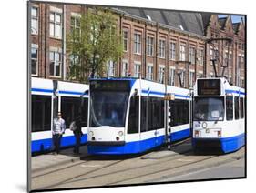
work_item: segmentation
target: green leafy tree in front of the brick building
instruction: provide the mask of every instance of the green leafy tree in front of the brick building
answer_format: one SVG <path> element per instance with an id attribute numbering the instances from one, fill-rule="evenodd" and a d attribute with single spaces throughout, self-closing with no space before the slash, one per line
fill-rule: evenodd
<path id="1" fill-rule="evenodd" d="M 106 75 L 108 60 L 118 62 L 123 55 L 123 41 L 118 20 L 108 9 L 88 9 L 77 26 L 67 35 L 67 53 L 72 64 L 68 77 L 87 83 L 88 76 Z"/>

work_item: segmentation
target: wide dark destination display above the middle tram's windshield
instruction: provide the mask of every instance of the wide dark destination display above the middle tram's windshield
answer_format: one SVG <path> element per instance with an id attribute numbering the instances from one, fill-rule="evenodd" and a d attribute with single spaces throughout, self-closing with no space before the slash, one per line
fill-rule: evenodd
<path id="1" fill-rule="evenodd" d="M 90 89 L 94 91 L 128 91 L 128 80 L 92 80 Z"/>

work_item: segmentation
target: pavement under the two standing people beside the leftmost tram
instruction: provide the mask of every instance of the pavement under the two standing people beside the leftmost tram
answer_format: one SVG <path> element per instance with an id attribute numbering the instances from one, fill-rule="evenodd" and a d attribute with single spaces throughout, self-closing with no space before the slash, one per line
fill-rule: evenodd
<path id="1" fill-rule="evenodd" d="M 44 170 L 46 168 L 52 168 L 61 164 L 67 164 L 80 160 L 82 157 L 87 157 L 87 146 L 80 147 L 80 155 L 73 153 L 73 147 L 63 149 L 58 155 L 53 153 L 47 153 L 39 156 L 31 157 L 31 169 L 32 172 Z"/>

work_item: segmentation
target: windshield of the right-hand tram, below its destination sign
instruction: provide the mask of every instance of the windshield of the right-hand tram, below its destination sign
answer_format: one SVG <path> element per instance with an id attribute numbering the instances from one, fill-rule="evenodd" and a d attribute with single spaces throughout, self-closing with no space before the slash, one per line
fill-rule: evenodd
<path id="1" fill-rule="evenodd" d="M 195 97 L 195 121 L 216 121 L 224 118 L 224 97 Z"/>

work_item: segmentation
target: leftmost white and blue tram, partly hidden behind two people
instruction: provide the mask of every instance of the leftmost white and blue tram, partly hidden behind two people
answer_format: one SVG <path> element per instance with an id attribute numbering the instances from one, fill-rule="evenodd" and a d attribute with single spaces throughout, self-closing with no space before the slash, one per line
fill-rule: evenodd
<path id="1" fill-rule="evenodd" d="M 82 115 L 81 143 L 87 142 L 88 85 L 32 77 L 31 79 L 31 152 L 43 152 L 53 147 L 52 125 L 57 111 L 66 121 L 61 147 L 75 145 L 70 122 Z M 83 105 L 81 106 L 81 101 Z"/>

